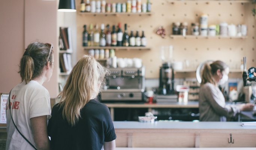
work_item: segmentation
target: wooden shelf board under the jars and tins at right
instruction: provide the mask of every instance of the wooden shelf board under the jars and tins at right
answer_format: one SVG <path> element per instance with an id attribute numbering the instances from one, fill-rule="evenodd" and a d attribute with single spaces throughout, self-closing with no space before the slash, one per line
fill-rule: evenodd
<path id="1" fill-rule="evenodd" d="M 172 39 L 247 39 L 247 36 L 193 36 L 170 35 Z"/>

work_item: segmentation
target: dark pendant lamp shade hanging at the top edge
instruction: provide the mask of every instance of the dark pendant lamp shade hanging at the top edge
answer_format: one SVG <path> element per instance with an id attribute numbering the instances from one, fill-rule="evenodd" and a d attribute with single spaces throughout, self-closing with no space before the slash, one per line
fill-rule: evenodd
<path id="1" fill-rule="evenodd" d="M 76 12 L 75 0 L 60 0 L 59 12 Z"/>

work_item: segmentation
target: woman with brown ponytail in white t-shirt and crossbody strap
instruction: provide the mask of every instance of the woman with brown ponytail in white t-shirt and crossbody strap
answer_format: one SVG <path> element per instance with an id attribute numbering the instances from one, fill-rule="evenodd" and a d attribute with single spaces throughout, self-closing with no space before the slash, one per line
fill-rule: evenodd
<path id="1" fill-rule="evenodd" d="M 11 90 L 6 104 L 6 150 L 50 150 L 50 95 L 42 84 L 52 76 L 52 48 L 49 43 L 33 42 L 20 60 L 21 83 Z"/>

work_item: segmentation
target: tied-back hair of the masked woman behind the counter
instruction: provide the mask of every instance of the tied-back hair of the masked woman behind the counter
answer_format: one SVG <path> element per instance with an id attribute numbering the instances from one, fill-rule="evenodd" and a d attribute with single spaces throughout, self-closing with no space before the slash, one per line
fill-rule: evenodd
<path id="1" fill-rule="evenodd" d="M 201 85 L 204 85 L 205 83 L 212 83 L 213 85 L 216 85 L 217 83 L 213 79 L 213 74 L 217 72 L 218 69 L 220 71 L 225 70 L 228 67 L 228 65 L 225 64 L 223 61 L 214 61 L 213 63 L 205 63 L 204 69 L 202 71 L 202 82 Z"/>

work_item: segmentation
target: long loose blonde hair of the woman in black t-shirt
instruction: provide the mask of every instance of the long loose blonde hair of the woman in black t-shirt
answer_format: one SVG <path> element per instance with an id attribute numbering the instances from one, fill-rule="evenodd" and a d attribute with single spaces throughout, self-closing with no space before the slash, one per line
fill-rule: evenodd
<path id="1" fill-rule="evenodd" d="M 71 126 L 77 123 L 80 110 L 91 96 L 101 91 L 107 75 L 109 70 L 92 56 L 84 55 L 74 66 L 63 91 L 58 95 L 61 96 L 59 104 L 63 107 L 63 119 L 66 119 Z"/>

